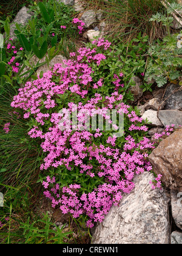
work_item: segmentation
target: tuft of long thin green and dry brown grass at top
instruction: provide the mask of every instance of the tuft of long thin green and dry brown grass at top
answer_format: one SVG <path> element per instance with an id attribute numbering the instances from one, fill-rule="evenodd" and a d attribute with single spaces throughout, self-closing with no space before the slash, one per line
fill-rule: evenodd
<path id="1" fill-rule="evenodd" d="M 151 42 L 166 35 L 163 26 L 149 21 L 153 14 L 166 12 L 160 0 L 89 0 L 87 9 L 103 10 L 103 21 L 112 38 L 130 41 L 141 32 L 149 35 Z"/>

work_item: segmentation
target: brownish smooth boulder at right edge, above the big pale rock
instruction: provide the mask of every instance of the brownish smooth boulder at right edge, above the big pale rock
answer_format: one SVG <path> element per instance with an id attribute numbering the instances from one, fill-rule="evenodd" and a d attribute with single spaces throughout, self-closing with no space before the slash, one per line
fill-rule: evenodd
<path id="1" fill-rule="evenodd" d="M 161 141 L 149 155 L 153 171 L 161 174 L 161 181 L 170 189 L 182 191 L 182 129 Z"/>

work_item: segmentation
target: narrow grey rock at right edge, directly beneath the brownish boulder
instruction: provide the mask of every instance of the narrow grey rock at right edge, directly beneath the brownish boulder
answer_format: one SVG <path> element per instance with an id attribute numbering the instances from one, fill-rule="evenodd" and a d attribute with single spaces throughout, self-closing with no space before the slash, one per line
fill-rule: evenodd
<path id="1" fill-rule="evenodd" d="M 177 227 L 182 229 L 182 193 L 176 190 L 170 191 L 172 216 Z"/>

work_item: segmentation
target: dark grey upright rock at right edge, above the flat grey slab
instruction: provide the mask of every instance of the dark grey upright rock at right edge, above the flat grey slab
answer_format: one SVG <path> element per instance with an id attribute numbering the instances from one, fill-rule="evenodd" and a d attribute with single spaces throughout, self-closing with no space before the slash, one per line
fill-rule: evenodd
<path id="1" fill-rule="evenodd" d="M 182 110 L 182 87 L 175 84 L 169 85 L 164 94 L 164 99 L 166 99 L 165 109 Z"/>

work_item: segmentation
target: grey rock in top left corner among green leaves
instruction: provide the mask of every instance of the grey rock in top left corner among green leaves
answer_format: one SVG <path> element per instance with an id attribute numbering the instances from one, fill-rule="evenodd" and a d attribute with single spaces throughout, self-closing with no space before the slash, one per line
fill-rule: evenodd
<path id="1" fill-rule="evenodd" d="M 10 37 L 12 37 L 13 39 L 16 38 L 14 32 L 16 29 L 15 23 L 18 23 L 21 26 L 25 26 L 28 23 L 28 21 L 32 18 L 32 15 L 28 13 L 28 11 L 29 9 L 27 7 L 22 7 L 21 10 L 19 10 L 17 15 L 15 16 L 15 19 L 10 24 Z"/>

